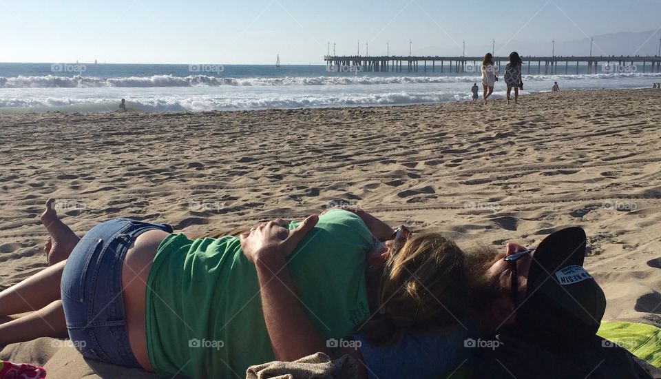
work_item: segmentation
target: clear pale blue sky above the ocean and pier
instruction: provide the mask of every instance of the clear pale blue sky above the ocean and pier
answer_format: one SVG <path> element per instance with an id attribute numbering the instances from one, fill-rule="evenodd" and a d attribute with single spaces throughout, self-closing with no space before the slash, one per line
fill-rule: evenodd
<path id="1" fill-rule="evenodd" d="M 319 64 L 328 41 L 408 55 L 410 39 L 414 55 L 460 55 L 463 41 L 479 55 L 492 39 L 496 52 L 555 39 L 561 54 L 562 41 L 616 32 L 658 45 L 660 28 L 661 0 L 0 0 L 0 61 Z"/>

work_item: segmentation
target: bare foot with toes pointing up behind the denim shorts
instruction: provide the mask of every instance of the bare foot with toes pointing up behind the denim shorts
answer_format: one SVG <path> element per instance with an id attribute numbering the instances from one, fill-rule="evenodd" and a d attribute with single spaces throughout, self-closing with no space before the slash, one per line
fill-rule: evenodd
<path id="1" fill-rule="evenodd" d="M 41 223 L 50 234 L 43 247 L 48 265 L 52 266 L 69 258 L 69 254 L 81 238 L 78 238 L 72 229 L 57 216 L 55 199 L 49 198 L 46 201 L 46 210 L 41 214 Z"/>

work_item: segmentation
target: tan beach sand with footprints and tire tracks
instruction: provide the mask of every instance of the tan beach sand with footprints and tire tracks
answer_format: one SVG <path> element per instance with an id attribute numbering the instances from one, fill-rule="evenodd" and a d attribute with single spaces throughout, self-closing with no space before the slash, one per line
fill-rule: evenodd
<path id="1" fill-rule="evenodd" d="M 604 319 L 661 324 L 658 90 L 486 107 L 0 114 L 0 130 L 2 287 L 45 267 L 48 197 L 80 235 L 118 216 L 184 232 L 253 226 L 344 199 L 461 247 L 534 247 L 583 227 Z M 72 347 L 45 338 L 1 358 L 45 364 L 52 378 L 93 373 Z"/>

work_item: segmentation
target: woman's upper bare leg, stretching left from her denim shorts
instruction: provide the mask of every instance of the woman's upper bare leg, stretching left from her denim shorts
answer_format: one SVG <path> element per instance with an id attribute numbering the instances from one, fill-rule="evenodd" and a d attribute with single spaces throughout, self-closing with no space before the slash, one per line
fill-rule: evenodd
<path id="1" fill-rule="evenodd" d="M 66 262 L 64 260 L 43 269 L 21 283 L 0 292 L 0 316 L 36 311 L 59 300 L 60 281 Z"/>

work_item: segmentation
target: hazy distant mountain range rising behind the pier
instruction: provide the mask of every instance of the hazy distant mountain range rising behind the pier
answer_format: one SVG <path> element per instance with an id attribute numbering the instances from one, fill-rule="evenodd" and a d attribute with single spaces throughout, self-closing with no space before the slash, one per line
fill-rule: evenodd
<path id="1" fill-rule="evenodd" d="M 610 34 L 601 34 L 594 36 L 594 45 L 592 45 L 593 55 L 658 55 L 659 38 L 661 30 L 647 30 L 644 32 L 619 32 Z M 454 43 L 443 46 L 434 46 L 421 48 L 414 52 L 414 55 L 461 55 L 461 48 Z M 461 43 L 461 41 L 459 41 Z M 499 44 L 496 41 L 496 55 L 506 56 L 512 51 L 516 51 L 523 56 L 550 56 L 552 54 L 552 42 L 549 41 L 510 41 L 507 45 Z M 467 56 L 481 56 L 486 52 L 492 51 L 492 44 L 470 46 L 466 45 Z M 587 56 L 590 54 L 590 39 L 576 39 L 572 41 L 556 41 L 556 55 L 565 56 Z"/>

